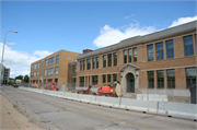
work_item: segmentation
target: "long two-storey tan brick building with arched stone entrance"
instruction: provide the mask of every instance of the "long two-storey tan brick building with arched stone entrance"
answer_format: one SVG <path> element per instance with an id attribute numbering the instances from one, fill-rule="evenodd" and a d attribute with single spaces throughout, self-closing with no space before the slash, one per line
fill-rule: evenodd
<path id="1" fill-rule="evenodd" d="M 119 81 L 123 96 L 164 94 L 170 101 L 188 102 L 189 86 L 196 84 L 196 24 L 84 50 L 77 58 L 76 86 Z"/>

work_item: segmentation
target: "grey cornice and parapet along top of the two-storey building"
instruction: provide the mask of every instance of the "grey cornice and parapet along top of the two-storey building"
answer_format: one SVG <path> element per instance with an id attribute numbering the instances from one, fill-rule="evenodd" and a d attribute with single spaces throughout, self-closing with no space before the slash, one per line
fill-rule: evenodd
<path id="1" fill-rule="evenodd" d="M 185 32 L 195 29 L 196 25 L 197 25 L 197 21 L 193 21 L 193 22 L 185 23 L 185 24 L 182 24 L 182 25 L 178 25 L 178 26 L 174 26 L 174 27 L 170 27 L 170 28 L 162 29 L 162 31 L 159 31 L 159 32 L 154 32 L 154 33 L 151 33 L 151 34 L 148 34 L 148 35 L 130 37 L 130 38 L 120 40 L 119 43 L 117 43 L 115 45 L 111 45 L 111 46 L 103 47 L 103 48 L 100 48 L 100 49 L 96 49 L 96 50 L 93 50 L 93 51 L 90 51 L 90 52 L 86 52 L 86 54 L 79 55 L 77 57 L 77 59 L 79 60 L 79 59 L 88 58 L 88 57 L 91 57 L 91 56 L 96 56 L 96 55 L 104 54 L 104 52 L 107 52 L 107 51 L 112 51 L 112 50 L 120 49 L 120 48 L 124 48 L 124 47 L 128 47 L 128 46 L 131 46 L 131 45 L 148 43 L 148 42 L 155 40 L 155 39 L 159 39 L 159 38 L 164 38 L 164 37 L 167 37 L 167 36 L 185 33 Z"/>

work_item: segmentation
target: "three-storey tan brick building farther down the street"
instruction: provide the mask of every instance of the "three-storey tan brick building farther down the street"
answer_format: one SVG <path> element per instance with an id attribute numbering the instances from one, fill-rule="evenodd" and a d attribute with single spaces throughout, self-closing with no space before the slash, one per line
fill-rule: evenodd
<path id="1" fill-rule="evenodd" d="M 59 50 L 31 64 L 31 83 L 44 85 L 47 82 L 56 82 L 58 85 L 68 82 L 69 61 L 76 59 L 78 52 Z"/>

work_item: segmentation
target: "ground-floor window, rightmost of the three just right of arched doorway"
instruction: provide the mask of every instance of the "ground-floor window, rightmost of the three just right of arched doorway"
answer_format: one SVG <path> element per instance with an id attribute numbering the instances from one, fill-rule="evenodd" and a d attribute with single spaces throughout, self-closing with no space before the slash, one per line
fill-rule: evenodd
<path id="1" fill-rule="evenodd" d="M 175 88 L 175 72 L 174 70 L 167 70 L 167 88 Z"/>

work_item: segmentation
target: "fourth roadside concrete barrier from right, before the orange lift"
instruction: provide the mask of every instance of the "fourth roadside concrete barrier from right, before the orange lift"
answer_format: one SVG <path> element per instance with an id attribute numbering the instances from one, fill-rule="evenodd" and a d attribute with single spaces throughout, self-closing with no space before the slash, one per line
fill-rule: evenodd
<path id="1" fill-rule="evenodd" d="M 79 94 L 78 101 L 79 101 L 79 102 L 82 102 L 82 103 L 88 103 L 88 104 L 90 104 L 90 103 L 95 102 L 95 98 L 96 98 L 96 96 L 94 96 L 94 95 Z"/>

